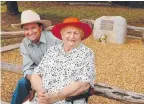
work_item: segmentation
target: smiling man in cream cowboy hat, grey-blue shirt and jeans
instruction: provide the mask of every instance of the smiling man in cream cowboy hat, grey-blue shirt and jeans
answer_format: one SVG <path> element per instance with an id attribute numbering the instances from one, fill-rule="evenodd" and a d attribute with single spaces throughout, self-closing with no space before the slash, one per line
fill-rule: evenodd
<path id="1" fill-rule="evenodd" d="M 12 24 L 12 27 L 24 30 L 25 38 L 20 46 L 24 77 L 17 84 L 11 104 L 22 104 L 31 91 L 29 80 L 34 68 L 39 65 L 49 47 L 61 43 L 50 31 L 44 30 L 50 25 L 49 20 L 41 20 L 40 16 L 32 10 L 22 12 L 21 23 Z"/>

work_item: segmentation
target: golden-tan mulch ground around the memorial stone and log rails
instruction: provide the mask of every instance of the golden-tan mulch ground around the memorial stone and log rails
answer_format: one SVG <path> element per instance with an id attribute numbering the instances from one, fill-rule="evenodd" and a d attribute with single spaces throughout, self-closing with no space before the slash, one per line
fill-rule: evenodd
<path id="1" fill-rule="evenodd" d="M 96 82 L 123 90 L 144 93 L 144 44 L 128 38 L 125 44 L 99 43 L 92 37 L 84 41 L 95 53 Z M 19 49 L 1 54 L 2 61 L 22 65 Z M 22 74 L 2 70 L 1 99 L 10 102 Z M 123 104 L 104 97 L 92 96 L 89 104 Z"/>

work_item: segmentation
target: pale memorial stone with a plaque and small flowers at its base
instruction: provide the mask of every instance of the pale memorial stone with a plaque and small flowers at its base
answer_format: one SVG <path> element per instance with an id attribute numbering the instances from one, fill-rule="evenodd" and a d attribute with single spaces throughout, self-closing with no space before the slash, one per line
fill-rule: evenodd
<path id="1" fill-rule="evenodd" d="M 100 42 L 123 44 L 127 35 L 126 19 L 121 16 L 97 18 L 94 22 L 93 35 Z"/>

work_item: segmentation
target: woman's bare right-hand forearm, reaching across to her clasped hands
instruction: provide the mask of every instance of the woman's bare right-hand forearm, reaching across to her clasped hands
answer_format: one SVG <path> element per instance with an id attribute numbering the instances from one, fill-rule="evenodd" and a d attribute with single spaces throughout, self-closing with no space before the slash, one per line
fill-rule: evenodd
<path id="1" fill-rule="evenodd" d="M 72 82 L 62 90 L 56 93 L 38 93 L 39 103 L 51 104 L 60 100 L 64 100 L 70 96 L 78 95 L 88 90 L 90 84 L 87 82 Z"/>

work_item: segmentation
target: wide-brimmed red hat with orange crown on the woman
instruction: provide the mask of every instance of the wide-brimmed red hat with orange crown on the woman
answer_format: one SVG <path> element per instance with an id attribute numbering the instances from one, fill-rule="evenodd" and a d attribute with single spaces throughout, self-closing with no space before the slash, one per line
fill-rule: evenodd
<path id="1" fill-rule="evenodd" d="M 78 28 L 81 28 L 84 32 L 84 36 L 82 37 L 82 40 L 86 39 L 87 37 L 89 37 L 92 33 L 92 29 L 91 27 L 86 24 L 86 23 L 82 23 L 78 18 L 66 18 L 63 23 L 59 23 L 56 24 L 53 28 L 52 28 L 52 33 L 55 37 L 57 37 L 58 39 L 61 39 L 61 29 L 64 28 L 65 26 L 68 25 L 72 25 Z"/>

